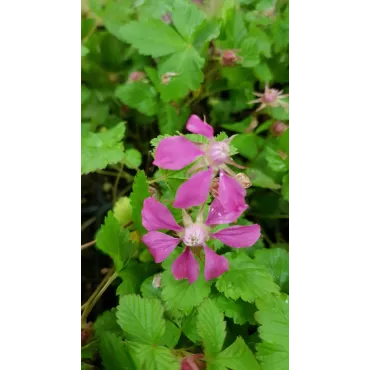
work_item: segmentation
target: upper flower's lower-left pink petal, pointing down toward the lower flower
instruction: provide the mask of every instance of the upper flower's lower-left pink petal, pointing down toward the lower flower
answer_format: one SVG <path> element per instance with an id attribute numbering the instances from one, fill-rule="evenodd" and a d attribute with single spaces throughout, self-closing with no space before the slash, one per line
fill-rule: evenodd
<path id="1" fill-rule="evenodd" d="M 198 206 L 207 200 L 211 187 L 213 169 L 200 171 L 190 177 L 178 188 L 173 203 L 175 208 L 190 208 Z"/>

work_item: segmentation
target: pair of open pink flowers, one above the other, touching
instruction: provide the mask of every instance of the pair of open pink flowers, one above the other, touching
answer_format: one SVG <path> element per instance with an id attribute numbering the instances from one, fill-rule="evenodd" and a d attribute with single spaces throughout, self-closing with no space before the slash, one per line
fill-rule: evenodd
<path id="1" fill-rule="evenodd" d="M 228 260 L 213 251 L 207 245 L 208 241 L 218 239 L 232 248 L 251 247 L 260 237 L 260 226 L 235 225 L 214 230 L 218 225 L 237 221 L 248 208 L 245 189 L 251 184 L 246 181 L 244 174 L 235 174 L 228 166 L 244 168 L 230 158 L 229 144 L 233 137 L 216 141 L 212 126 L 196 115 L 189 118 L 186 128 L 205 136 L 208 142 L 194 143 L 184 136 L 165 138 L 158 144 L 153 162 L 163 169 L 180 170 L 197 161 L 189 170 L 195 173 L 179 187 L 173 203 L 173 207 L 182 209 L 182 225 L 176 222 L 162 203 L 149 197 L 145 199 L 142 210 L 143 226 L 148 230 L 142 240 L 157 263 L 163 262 L 182 242 L 185 249 L 172 264 L 172 273 L 178 280 L 185 278 L 193 283 L 200 270 L 195 255 L 201 259 L 201 250 L 204 251 L 204 275 L 207 281 L 229 268 Z M 210 193 L 215 198 L 205 217 L 204 208 Z M 194 206 L 200 206 L 195 220 L 187 211 Z M 169 230 L 173 235 L 159 230 Z"/>

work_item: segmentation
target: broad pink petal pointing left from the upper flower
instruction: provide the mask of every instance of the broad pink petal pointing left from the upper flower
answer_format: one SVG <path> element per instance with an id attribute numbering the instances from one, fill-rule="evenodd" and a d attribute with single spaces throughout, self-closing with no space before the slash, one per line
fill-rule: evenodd
<path id="1" fill-rule="evenodd" d="M 184 136 L 167 137 L 159 142 L 153 164 L 167 170 L 181 170 L 201 155 L 204 152 Z"/>

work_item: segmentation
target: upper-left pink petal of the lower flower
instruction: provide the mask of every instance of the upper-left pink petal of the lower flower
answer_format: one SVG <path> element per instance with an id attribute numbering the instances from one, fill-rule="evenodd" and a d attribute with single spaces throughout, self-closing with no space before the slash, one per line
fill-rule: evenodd
<path id="1" fill-rule="evenodd" d="M 143 219 L 143 226 L 148 231 L 182 230 L 182 227 L 177 224 L 172 213 L 162 203 L 152 197 L 144 200 L 141 216 Z"/>

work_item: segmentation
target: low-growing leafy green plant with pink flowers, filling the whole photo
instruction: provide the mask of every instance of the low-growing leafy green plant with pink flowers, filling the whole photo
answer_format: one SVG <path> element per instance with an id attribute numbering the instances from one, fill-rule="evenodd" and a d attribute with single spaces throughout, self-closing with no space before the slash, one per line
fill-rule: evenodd
<path id="1" fill-rule="evenodd" d="M 288 89 L 288 1 L 81 3 L 82 369 L 289 369 Z"/>

